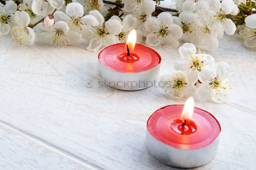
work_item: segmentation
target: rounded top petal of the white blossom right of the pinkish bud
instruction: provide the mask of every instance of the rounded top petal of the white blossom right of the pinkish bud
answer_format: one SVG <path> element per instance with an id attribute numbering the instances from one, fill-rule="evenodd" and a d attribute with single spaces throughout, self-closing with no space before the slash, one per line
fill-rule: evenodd
<path id="1" fill-rule="evenodd" d="M 63 1 L 64 2 L 64 1 Z M 83 6 L 79 3 L 69 3 L 66 7 L 66 13 L 74 18 L 83 16 Z"/>

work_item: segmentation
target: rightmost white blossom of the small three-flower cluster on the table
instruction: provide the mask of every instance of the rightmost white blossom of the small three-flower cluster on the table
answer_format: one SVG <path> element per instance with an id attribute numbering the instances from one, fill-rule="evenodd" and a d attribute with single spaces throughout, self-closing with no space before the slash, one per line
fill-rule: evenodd
<path id="1" fill-rule="evenodd" d="M 216 103 L 222 103 L 230 99 L 229 90 L 232 84 L 232 73 L 229 73 L 229 65 L 219 62 L 215 68 L 205 66 L 198 74 L 203 84 L 197 88 L 196 95 L 201 101 L 212 99 Z"/>

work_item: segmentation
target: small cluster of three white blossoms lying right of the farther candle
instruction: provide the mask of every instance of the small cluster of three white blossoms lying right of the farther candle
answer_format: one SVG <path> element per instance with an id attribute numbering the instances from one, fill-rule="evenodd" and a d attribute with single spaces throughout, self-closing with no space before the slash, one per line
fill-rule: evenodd
<path id="1" fill-rule="evenodd" d="M 174 61 L 174 73 L 162 75 L 162 89 L 176 98 L 197 96 L 199 100 L 222 103 L 230 99 L 232 73 L 227 62 L 214 62 L 195 45 L 185 43 L 179 48 L 180 58 Z"/>

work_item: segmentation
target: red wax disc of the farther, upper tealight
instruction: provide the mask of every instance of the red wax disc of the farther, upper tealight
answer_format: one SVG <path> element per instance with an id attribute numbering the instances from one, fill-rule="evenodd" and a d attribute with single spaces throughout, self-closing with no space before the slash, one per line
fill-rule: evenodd
<path id="1" fill-rule="evenodd" d="M 159 54 L 142 44 L 135 44 L 127 58 L 125 43 L 113 44 L 103 48 L 98 56 L 107 68 L 122 73 L 137 73 L 156 67 L 161 62 Z"/>

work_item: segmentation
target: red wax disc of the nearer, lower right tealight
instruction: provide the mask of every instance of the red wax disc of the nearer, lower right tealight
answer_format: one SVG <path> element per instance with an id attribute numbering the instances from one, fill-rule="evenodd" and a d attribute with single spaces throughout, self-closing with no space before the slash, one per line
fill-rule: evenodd
<path id="1" fill-rule="evenodd" d="M 210 145 L 219 136 L 220 124 L 207 111 L 196 108 L 182 127 L 184 105 L 169 105 L 155 111 L 147 122 L 148 132 L 166 145 L 179 149 L 199 149 Z"/>

